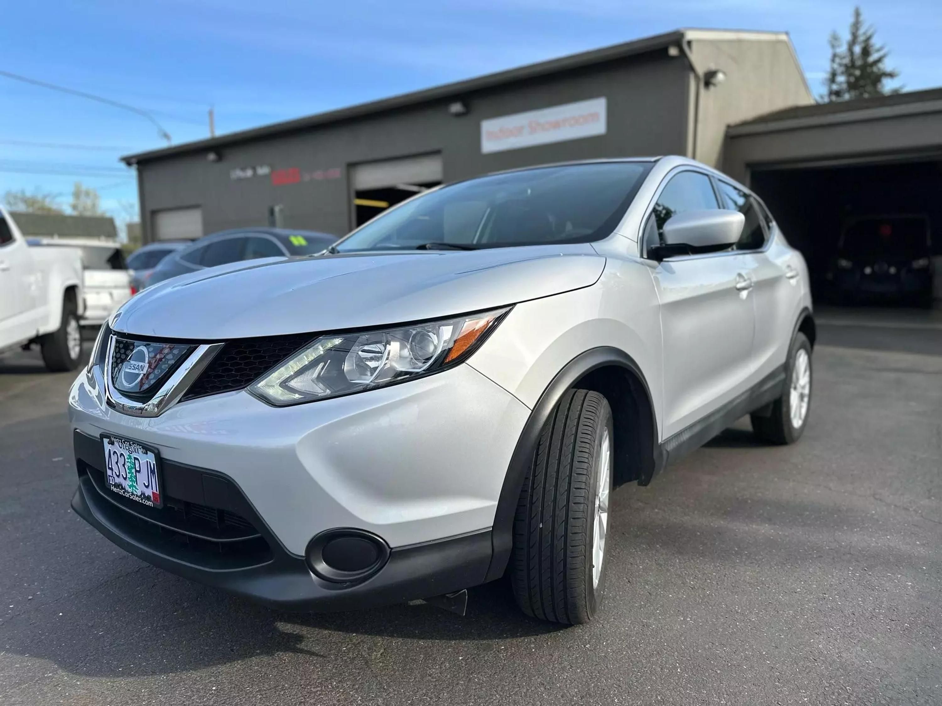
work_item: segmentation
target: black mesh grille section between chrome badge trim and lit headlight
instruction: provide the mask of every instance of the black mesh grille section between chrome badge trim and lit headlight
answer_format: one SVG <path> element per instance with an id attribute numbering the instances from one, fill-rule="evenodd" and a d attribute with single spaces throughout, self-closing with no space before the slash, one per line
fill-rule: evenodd
<path id="1" fill-rule="evenodd" d="M 183 399 L 242 390 L 313 339 L 310 333 L 297 333 L 230 341 L 222 346 Z"/>

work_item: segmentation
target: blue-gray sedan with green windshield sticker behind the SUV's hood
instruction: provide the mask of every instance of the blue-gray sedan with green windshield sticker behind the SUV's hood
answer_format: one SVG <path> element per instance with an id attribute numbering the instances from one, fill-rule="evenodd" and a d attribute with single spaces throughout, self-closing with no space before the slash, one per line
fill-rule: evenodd
<path id="1" fill-rule="evenodd" d="M 263 257 L 313 255 L 336 241 L 337 236 L 329 233 L 281 228 L 240 228 L 204 235 L 165 257 L 154 269 L 147 286 L 204 267 Z"/>

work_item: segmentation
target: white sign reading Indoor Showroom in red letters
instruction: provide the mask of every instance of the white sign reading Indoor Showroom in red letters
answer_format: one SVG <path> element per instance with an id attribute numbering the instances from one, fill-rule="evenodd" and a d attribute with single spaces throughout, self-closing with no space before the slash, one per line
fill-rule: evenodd
<path id="1" fill-rule="evenodd" d="M 521 147 L 605 135 L 607 118 L 603 96 L 481 120 L 480 152 L 519 150 Z"/>

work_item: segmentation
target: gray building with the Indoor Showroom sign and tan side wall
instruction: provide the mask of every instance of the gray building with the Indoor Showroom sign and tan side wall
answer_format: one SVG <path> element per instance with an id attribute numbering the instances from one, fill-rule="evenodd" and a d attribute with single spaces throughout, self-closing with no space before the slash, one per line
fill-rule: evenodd
<path id="1" fill-rule="evenodd" d="M 547 162 L 685 154 L 812 104 L 783 33 L 678 30 L 124 157 L 144 241 L 277 225 L 343 234 L 430 185 Z"/>

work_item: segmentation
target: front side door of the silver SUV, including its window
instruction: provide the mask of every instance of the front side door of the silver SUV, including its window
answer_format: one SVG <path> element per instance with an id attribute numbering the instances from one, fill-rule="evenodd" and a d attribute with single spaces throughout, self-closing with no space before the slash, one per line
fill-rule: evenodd
<path id="1" fill-rule="evenodd" d="M 719 208 L 706 173 L 676 170 L 645 221 L 645 243 L 660 240 L 675 214 Z M 665 439 L 748 387 L 755 319 L 747 257 L 735 250 L 676 256 L 652 272 L 660 301 Z"/>

